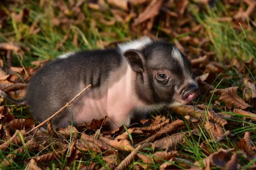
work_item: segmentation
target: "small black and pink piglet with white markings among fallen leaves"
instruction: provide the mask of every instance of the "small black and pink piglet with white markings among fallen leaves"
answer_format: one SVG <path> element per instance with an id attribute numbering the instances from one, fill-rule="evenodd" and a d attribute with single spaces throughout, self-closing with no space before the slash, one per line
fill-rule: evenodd
<path id="1" fill-rule="evenodd" d="M 23 100 L 32 117 L 46 120 L 87 85 L 58 116 L 58 127 L 89 123 L 108 115 L 110 129 L 130 124 L 131 118 L 160 107 L 192 101 L 199 94 L 189 60 L 165 41 L 148 37 L 118 44 L 117 48 L 67 53 L 44 65 L 30 80 Z M 9 98 L 8 98 L 9 97 Z"/>

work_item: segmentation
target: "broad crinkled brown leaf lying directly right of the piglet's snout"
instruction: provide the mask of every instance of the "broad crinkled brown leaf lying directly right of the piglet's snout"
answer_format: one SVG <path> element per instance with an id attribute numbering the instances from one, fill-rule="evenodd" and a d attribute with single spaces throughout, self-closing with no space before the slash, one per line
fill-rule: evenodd
<path id="1" fill-rule="evenodd" d="M 237 96 L 237 89 L 238 87 L 229 87 L 225 89 L 217 89 L 215 94 L 220 95 L 220 101 L 224 101 L 226 103 L 232 104 L 238 109 L 246 109 L 250 107 L 249 104 L 245 103 L 242 98 Z M 213 91 L 211 91 L 212 93 Z"/>

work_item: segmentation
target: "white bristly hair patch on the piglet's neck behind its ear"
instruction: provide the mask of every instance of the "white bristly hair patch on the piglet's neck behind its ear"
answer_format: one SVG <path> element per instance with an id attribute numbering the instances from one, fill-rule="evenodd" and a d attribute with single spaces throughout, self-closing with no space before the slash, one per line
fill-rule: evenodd
<path id="1" fill-rule="evenodd" d="M 127 50 L 141 50 L 144 46 L 149 45 L 153 40 L 147 36 L 135 39 L 129 42 L 117 44 L 117 50 L 123 54 Z"/>

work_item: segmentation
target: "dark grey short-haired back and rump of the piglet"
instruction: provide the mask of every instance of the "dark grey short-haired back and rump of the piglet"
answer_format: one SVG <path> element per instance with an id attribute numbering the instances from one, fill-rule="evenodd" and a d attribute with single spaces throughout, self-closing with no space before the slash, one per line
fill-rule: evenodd
<path id="1" fill-rule="evenodd" d="M 110 73 L 119 69 L 123 62 L 115 49 L 108 49 L 77 52 L 47 63 L 31 78 L 27 88 L 26 101 L 32 117 L 39 122 L 46 120 L 89 84 L 92 87 L 81 97 L 100 97 L 108 88 Z M 78 103 L 74 102 L 72 107 L 83 107 Z M 73 116 L 79 114 L 76 112 L 79 110 L 82 109 L 74 109 Z M 65 121 L 61 123 L 63 126 L 70 124 L 69 108 L 53 119 L 54 124 L 61 121 Z"/>

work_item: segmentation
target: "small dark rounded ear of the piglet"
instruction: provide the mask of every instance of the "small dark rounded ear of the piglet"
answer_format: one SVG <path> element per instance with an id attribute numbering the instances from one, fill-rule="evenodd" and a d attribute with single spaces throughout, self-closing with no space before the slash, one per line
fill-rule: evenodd
<path id="1" fill-rule="evenodd" d="M 135 72 L 143 72 L 144 56 L 142 52 L 138 50 L 127 50 L 123 53 L 127 58 L 131 69 Z"/>

